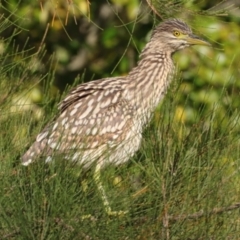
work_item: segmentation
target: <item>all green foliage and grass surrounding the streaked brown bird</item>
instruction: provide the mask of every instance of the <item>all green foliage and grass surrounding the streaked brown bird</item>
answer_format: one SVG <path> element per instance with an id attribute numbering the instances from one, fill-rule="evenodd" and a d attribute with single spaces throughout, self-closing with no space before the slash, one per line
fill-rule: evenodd
<path id="1" fill-rule="evenodd" d="M 20 156 L 56 114 L 59 89 L 127 74 L 157 17 L 138 1 L 1 2 L 0 239 L 239 238 L 239 19 L 213 17 L 208 1 L 153 4 L 212 48 L 174 56 L 140 151 L 102 172 L 112 209 L 129 211 L 109 217 L 93 170 L 61 157 L 25 168 Z"/>

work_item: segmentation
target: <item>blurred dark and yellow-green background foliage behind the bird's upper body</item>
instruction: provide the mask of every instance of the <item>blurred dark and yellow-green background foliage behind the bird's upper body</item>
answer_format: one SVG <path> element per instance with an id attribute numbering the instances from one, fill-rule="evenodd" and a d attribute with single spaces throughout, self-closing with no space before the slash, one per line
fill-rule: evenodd
<path id="1" fill-rule="evenodd" d="M 5 56 L 6 64 L 14 61 L 19 69 L 27 62 L 32 64 L 19 93 L 25 99 L 17 95 L 13 102 L 27 101 L 29 108 L 25 106 L 24 110 L 38 109 L 35 118 L 39 120 L 44 116 L 41 105 L 58 101 L 57 93 L 77 77 L 78 82 L 86 82 L 126 75 L 136 65 L 153 25 L 178 17 L 211 42 L 212 47 L 196 47 L 176 54 L 181 86 L 175 120 L 192 124 L 199 116 L 199 108 L 208 112 L 218 105 L 217 114 L 225 118 L 224 127 L 239 105 L 238 5 L 237 1 L 218 0 L 197 4 L 152 1 L 157 16 L 147 2 L 139 0 L 2 1 L 2 19 L 12 23 L 1 32 L 2 58 Z M 11 41 L 6 40 L 9 38 Z M 6 57 L 9 52 L 14 56 Z M 22 76 L 15 73 L 3 81 L 16 82 L 16 77 Z M 50 91 L 46 85 L 50 85 Z"/>

